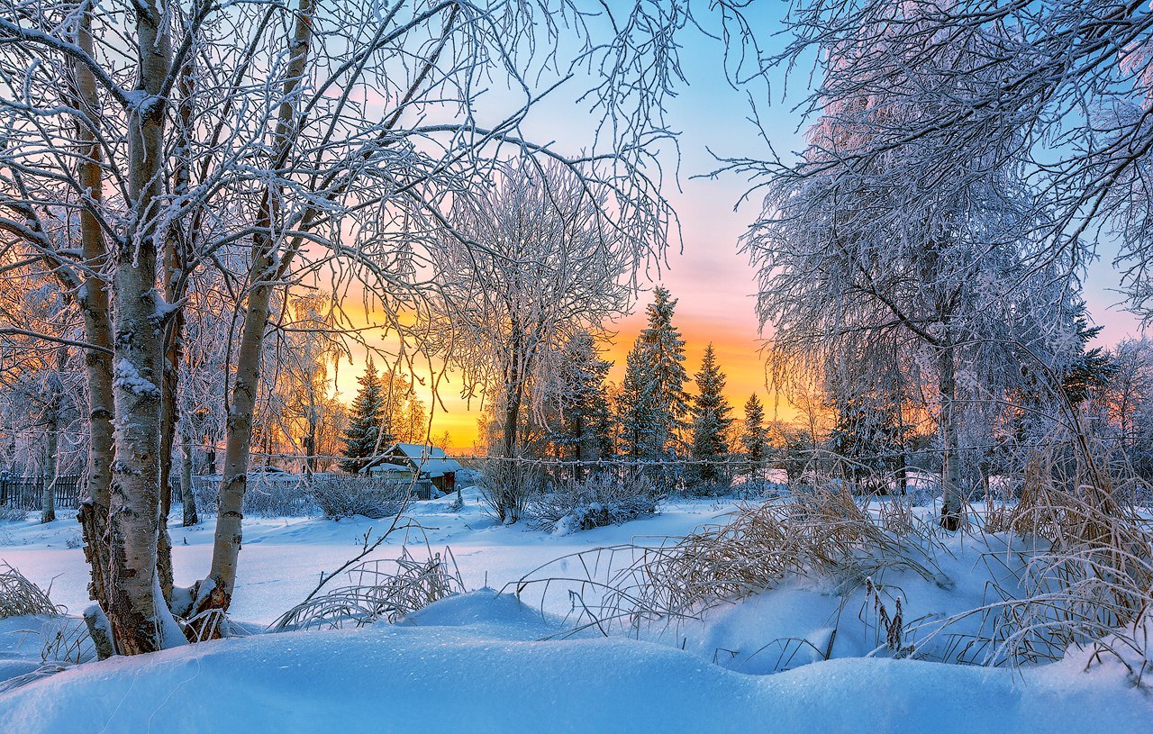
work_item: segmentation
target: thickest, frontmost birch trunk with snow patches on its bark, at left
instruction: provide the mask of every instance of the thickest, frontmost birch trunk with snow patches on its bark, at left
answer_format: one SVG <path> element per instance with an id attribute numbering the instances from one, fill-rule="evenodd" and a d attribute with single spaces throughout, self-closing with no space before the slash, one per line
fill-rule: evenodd
<path id="1" fill-rule="evenodd" d="M 164 107 L 168 71 L 166 12 L 135 6 L 140 103 L 128 115 L 128 194 L 133 219 L 119 243 L 113 280 L 113 401 L 116 461 L 112 468 L 112 568 L 108 622 L 125 654 L 176 644 L 160 590 L 160 403 L 165 304 L 156 290 L 157 222 L 164 195 Z"/>

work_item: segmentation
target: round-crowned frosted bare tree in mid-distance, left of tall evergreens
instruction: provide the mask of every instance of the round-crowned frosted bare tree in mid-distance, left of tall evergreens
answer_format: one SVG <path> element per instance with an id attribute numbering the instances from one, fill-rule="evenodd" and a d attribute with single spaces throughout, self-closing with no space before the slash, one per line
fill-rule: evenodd
<path id="1" fill-rule="evenodd" d="M 660 240 L 651 222 L 613 224 L 579 172 L 532 159 L 505 167 L 488 197 L 458 202 L 451 222 L 435 257 L 445 328 L 497 407 L 499 456 L 514 459 L 522 411 L 543 423 L 564 346 L 627 311 L 630 283 Z M 458 237 L 476 247 L 454 247 Z M 510 498 L 498 512 L 514 507 Z"/>

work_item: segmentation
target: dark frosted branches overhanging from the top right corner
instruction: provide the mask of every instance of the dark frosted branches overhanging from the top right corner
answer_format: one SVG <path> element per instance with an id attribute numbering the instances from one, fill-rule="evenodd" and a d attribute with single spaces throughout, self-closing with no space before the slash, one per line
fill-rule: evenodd
<path id="1" fill-rule="evenodd" d="M 869 137 L 842 150 L 842 160 L 867 167 L 915 151 L 926 136 L 942 139 L 910 192 L 928 202 L 943 194 L 940 171 L 967 165 L 967 151 L 1012 150 L 1052 212 L 1028 222 L 1043 243 L 1033 262 L 1068 267 L 1091 256 L 1098 240 L 1116 240 L 1114 265 L 1130 303 L 1150 313 L 1148 3 L 794 0 L 783 25 L 787 41 L 762 55 L 762 68 L 812 68 L 817 54 L 819 82 L 799 105 L 804 113 L 866 98 L 919 111 L 875 119 Z M 854 53 L 829 63 L 826 54 L 838 47 Z M 980 61 L 958 67 L 959 48 L 980 48 Z M 776 158 L 747 162 L 767 175 L 792 168 Z"/>

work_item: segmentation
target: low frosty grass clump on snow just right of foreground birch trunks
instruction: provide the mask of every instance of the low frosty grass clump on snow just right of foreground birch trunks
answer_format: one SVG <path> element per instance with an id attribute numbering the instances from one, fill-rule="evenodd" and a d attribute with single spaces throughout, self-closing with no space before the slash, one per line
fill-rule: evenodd
<path id="1" fill-rule="evenodd" d="M 349 584 L 304 599 L 269 629 L 339 629 L 395 622 L 434 601 L 465 591 L 452 551 L 417 560 L 405 546 L 400 558 L 367 561 L 347 572 Z"/>

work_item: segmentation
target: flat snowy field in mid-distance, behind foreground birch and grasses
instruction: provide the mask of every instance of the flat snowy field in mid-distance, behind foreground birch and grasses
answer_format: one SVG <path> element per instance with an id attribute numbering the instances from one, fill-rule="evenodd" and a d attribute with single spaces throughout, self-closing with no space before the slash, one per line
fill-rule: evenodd
<path id="1" fill-rule="evenodd" d="M 477 492 L 465 492 L 465 507 L 452 510 L 453 498 L 415 502 L 408 513 L 425 532 L 408 532 L 409 546 L 423 546 L 424 536 L 434 552 L 445 546 L 460 567 L 466 589 L 500 589 L 537 566 L 598 545 L 643 542 L 640 536 L 679 536 L 701 522 L 721 522 L 736 500 L 680 500 L 662 506 L 662 512 L 624 525 L 597 528 L 568 536 L 552 536 L 520 523 L 499 524 L 480 504 Z M 80 525 L 66 513 L 42 525 L 29 515 L 22 522 L 0 523 L 0 563 L 7 562 L 42 589 L 52 587 L 52 600 L 78 614 L 88 598 L 88 566 L 80 547 Z M 212 559 L 216 519 L 209 516 L 194 528 L 180 525 L 173 512 L 172 562 L 176 585 L 202 578 Z M 244 542 L 232 615 L 241 621 L 269 623 L 303 599 L 321 572 L 331 572 L 356 555 L 364 534 L 374 538 L 387 529 L 389 519 L 349 517 L 340 522 L 323 517 L 244 519 Z M 372 559 L 397 558 L 405 534 L 389 539 Z M 68 547 L 71 544 L 75 547 Z M 337 583 L 337 582 L 333 582 Z"/>

